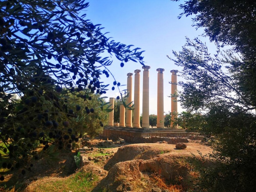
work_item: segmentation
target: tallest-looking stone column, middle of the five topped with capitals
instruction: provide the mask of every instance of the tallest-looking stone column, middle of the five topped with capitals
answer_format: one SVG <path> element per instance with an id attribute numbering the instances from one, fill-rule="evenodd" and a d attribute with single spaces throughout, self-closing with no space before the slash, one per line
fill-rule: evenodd
<path id="1" fill-rule="evenodd" d="M 149 128 L 149 69 L 144 65 L 143 71 L 143 93 L 142 93 L 142 127 Z"/>

